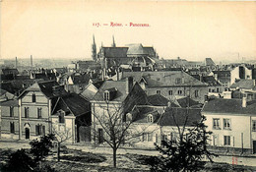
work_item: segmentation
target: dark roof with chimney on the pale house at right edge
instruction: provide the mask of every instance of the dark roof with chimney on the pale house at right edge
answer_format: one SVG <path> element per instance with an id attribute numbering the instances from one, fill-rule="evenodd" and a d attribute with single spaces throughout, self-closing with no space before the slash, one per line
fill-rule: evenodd
<path id="1" fill-rule="evenodd" d="M 218 113 L 218 114 L 254 114 L 256 115 L 256 100 L 248 101 L 246 107 L 242 107 L 241 99 L 223 99 L 216 98 L 208 101 L 204 108 L 203 112 Z"/>

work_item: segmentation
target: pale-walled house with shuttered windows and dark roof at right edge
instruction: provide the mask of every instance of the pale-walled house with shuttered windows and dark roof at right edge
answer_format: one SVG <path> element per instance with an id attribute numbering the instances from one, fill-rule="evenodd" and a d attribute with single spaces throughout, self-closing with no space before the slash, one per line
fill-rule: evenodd
<path id="1" fill-rule="evenodd" d="M 242 99 L 213 99 L 202 114 L 207 130 L 212 131 L 210 144 L 215 149 L 241 153 L 256 153 L 256 101 Z"/>

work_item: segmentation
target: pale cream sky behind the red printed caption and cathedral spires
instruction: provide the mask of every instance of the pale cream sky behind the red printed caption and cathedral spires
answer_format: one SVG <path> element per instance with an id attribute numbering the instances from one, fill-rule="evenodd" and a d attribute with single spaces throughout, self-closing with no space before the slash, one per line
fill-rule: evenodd
<path id="1" fill-rule="evenodd" d="M 116 46 L 154 46 L 164 59 L 256 60 L 256 2 L 2 0 L 0 5 L 3 59 L 88 59 L 93 35 L 97 50 L 110 46 L 114 35 Z"/>

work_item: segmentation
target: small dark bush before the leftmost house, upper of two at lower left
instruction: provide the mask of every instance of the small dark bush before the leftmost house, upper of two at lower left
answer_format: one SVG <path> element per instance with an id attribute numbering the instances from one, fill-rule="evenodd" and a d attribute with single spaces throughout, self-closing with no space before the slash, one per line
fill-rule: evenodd
<path id="1" fill-rule="evenodd" d="M 50 149 L 53 147 L 52 142 L 54 139 L 55 136 L 53 134 L 48 134 L 41 136 L 39 141 L 36 139 L 30 143 L 31 153 L 36 161 L 40 161 L 48 155 Z"/>

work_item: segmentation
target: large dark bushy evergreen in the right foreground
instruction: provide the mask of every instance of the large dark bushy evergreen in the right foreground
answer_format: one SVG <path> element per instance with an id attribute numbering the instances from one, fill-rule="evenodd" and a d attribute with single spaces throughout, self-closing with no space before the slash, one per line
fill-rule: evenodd
<path id="1" fill-rule="evenodd" d="M 152 166 L 153 171 L 199 171 L 206 163 L 204 157 L 213 162 L 212 157 L 217 156 L 207 150 L 207 141 L 211 132 L 206 132 L 204 124 L 206 118 L 202 116 L 200 122 L 195 123 L 192 129 L 186 130 L 186 122 L 178 127 L 178 138 L 176 140 L 164 140 L 162 146 L 156 145 L 162 154 Z M 163 148 L 163 147 L 166 148 Z"/>

